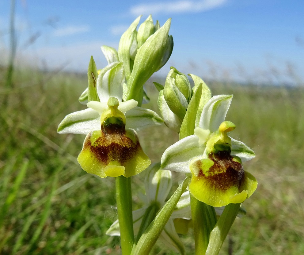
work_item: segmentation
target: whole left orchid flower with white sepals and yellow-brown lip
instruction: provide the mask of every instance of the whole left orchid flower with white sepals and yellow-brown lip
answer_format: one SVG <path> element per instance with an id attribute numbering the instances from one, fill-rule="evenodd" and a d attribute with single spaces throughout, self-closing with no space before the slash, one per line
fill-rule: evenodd
<path id="1" fill-rule="evenodd" d="M 130 177 L 146 169 L 151 161 L 134 129 L 163 122 L 154 111 L 137 107 L 137 101 L 122 101 L 124 80 L 123 63 L 106 66 L 94 88 L 100 101 L 91 100 L 88 109 L 67 115 L 57 130 L 86 135 L 77 160 L 82 169 L 99 177 Z"/>

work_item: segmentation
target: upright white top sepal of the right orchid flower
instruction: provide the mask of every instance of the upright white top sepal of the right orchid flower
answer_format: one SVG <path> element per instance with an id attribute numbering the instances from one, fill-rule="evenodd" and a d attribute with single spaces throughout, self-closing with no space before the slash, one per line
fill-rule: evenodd
<path id="1" fill-rule="evenodd" d="M 199 127 L 214 132 L 225 121 L 230 107 L 232 95 L 219 95 L 212 97 L 204 106 L 199 120 Z"/>

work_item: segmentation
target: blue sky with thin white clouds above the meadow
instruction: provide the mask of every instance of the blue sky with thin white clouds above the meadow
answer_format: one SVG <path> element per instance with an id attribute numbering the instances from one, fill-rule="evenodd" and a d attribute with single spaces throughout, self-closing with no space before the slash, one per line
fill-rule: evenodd
<path id="1" fill-rule="evenodd" d="M 9 46 L 10 1 L 0 1 L 0 60 Z M 304 1 L 27 1 L 16 0 L 17 57 L 42 68 L 85 72 L 100 46 L 118 48 L 140 14 L 160 24 L 171 17 L 174 48 L 168 64 L 203 78 L 304 80 Z M 29 44 L 30 38 L 35 38 Z"/>

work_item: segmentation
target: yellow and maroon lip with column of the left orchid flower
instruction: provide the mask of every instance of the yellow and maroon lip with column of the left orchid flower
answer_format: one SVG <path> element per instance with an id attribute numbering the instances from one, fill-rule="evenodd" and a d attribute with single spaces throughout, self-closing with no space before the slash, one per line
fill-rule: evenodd
<path id="1" fill-rule="evenodd" d="M 99 177 L 130 177 L 151 163 L 143 152 L 136 132 L 125 129 L 126 118 L 118 110 L 119 102 L 111 97 L 108 111 L 101 115 L 101 130 L 89 132 L 77 160 L 87 173 Z"/>

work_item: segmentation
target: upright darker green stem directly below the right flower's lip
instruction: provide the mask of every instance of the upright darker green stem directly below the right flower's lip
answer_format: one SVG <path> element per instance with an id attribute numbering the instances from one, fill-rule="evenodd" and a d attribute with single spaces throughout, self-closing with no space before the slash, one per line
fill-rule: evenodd
<path id="1" fill-rule="evenodd" d="M 195 254 L 206 253 L 209 235 L 216 224 L 216 213 L 212 206 L 200 202 L 190 193 L 190 204 L 194 231 Z"/>

